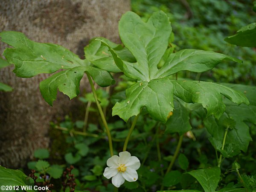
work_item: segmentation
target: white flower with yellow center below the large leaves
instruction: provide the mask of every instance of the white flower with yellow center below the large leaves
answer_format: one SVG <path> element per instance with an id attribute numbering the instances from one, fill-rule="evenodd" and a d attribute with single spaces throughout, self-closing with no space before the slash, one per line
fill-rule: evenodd
<path id="1" fill-rule="evenodd" d="M 120 152 L 119 157 L 113 155 L 107 160 L 107 166 L 103 175 L 107 179 L 112 178 L 116 187 L 121 186 L 125 180 L 134 182 L 138 179 L 136 170 L 140 168 L 140 160 L 127 151 Z"/>

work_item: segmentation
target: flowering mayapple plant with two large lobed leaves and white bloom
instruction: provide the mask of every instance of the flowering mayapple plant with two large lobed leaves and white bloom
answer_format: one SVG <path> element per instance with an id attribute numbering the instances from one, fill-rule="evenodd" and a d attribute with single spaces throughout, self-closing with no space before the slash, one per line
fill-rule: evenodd
<path id="1" fill-rule="evenodd" d="M 173 53 L 172 48 L 169 47 L 172 40 L 172 27 L 163 11 L 152 14 L 147 23 L 143 22 L 137 14 L 128 11 L 119 21 L 119 35 L 124 46 L 98 37 L 91 40 L 90 44 L 84 48 L 85 59 L 81 60 L 76 54 L 62 46 L 36 43 L 20 32 L 0 33 L 1 40 L 13 47 L 7 48 L 3 55 L 9 63 L 15 65 L 14 72 L 18 77 L 33 77 L 41 73 L 54 73 L 61 69 L 40 83 L 41 94 L 51 106 L 56 100 L 58 90 L 68 95 L 70 99 L 76 97 L 79 94 L 80 80 L 84 73 L 87 75 L 99 114 L 106 128 L 112 156 L 107 161 L 108 167 L 105 169 L 104 176 L 112 177 L 112 183 L 116 187 L 122 185 L 125 180 L 137 181 L 136 170 L 140 167 L 140 160 L 127 152 L 127 145 L 143 108 L 151 118 L 161 123 L 170 123 L 167 120 L 173 114 L 170 118 L 171 122 L 176 121 L 176 124 L 179 123 L 180 126 L 171 126 L 168 132 L 180 134 L 178 144 L 180 147 L 183 133 L 191 129 L 186 112 L 189 106 L 186 103 L 199 103 L 199 106 L 203 106 L 207 110 L 206 117 L 209 123 L 222 118 L 226 109 L 223 96 L 238 105 L 249 104 L 243 93 L 228 86 L 212 82 L 177 80 L 177 76 L 176 79 L 174 78 L 174 75 L 180 71 L 205 72 L 223 60 L 238 63 L 241 63 L 241 60 L 221 53 L 196 49 L 183 49 Z M 126 98 L 116 102 L 112 109 L 112 115 L 118 115 L 125 122 L 135 116 L 125 139 L 123 152 L 119 153 L 119 157 L 113 154 L 111 132 L 91 79 L 92 77 L 102 87 L 113 85 L 115 81 L 110 72 L 122 72 L 136 81 L 126 89 Z M 182 115 L 175 115 L 179 113 Z M 232 120 L 224 121 L 234 124 Z M 187 123 L 186 126 L 183 126 L 185 123 Z M 227 125 L 227 127 L 226 130 L 229 130 L 232 126 Z M 219 140 L 224 137 L 223 145 L 217 146 L 216 144 L 215 146 L 215 149 L 222 154 L 226 149 L 224 146 L 227 132 L 221 132 L 221 134 L 218 135 L 218 139 L 214 140 L 214 131 L 212 131 L 211 143 L 218 144 Z M 179 147 L 175 152 L 175 158 Z M 246 149 L 239 148 L 240 150 Z M 221 157 L 218 159 L 219 166 L 222 162 Z M 172 168 L 173 163 L 170 164 L 166 174 Z M 212 187 L 216 189 L 220 179 L 219 166 L 195 170 L 189 174 L 195 178 L 201 173 L 217 175 L 216 181 L 211 181 L 214 183 Z M 198 181 L 201 183 L 200 180 Z"/>

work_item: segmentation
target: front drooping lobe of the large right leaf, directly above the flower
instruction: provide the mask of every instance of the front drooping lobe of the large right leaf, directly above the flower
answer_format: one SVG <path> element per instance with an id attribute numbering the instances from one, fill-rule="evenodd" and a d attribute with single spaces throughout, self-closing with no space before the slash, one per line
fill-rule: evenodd
<path id="1" fill-rule="evenodd" d="M 126 100 L 116 103 L 112 115 L 119 115 L 127 121 L 145 106 L 153 119 L 166 122 L 169 112 L 173 110 L 172 87 L 168 78 L 138 82 L 126 90 Z"/>

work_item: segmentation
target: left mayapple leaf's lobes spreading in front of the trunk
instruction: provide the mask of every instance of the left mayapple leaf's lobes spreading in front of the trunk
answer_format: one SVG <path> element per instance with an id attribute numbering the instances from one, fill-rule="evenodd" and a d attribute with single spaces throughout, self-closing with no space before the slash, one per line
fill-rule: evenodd
<path id="1" fill-rule="evenodd" d="M 3 55 L 9 63 L 15 65 L 13 72 L 18 77 L 33 77 L 67 69 L 40 83 L 41 94 L 51 106 L 53 100 L 56 100 L 58 89 L 70 99 L 79 94 L 79 84 L 84 72 L 90 74 L 99 86 L 114 83 L 109 72 L 91 66 L 88 60 L 81 60 L 78 55 L 62 46 L 34 42 L 20 32 L 4 31 L 0 33 L 0 37 L 3 42 L 14 47 L 6 48 Z"/>

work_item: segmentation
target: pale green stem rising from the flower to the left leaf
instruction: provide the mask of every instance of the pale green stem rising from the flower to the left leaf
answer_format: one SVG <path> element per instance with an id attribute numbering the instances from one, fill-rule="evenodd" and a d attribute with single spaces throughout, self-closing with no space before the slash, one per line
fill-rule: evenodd
<path id="1" fill-rule="evenodd" d="M 111 156 L 113 156 L 114 153 L 113 153 L 112 138 L 111 138 L 110 130 L 108 128 L 108 123 L 107 123 L 107 121 L 105 119 L 104 113 L 102 111 L 102 107 L 99 104 L 98 97 L 97 97 L 97 94 L 96 94 L 96 90 L 94 89 L 92 78 L 91 78 L 89 73 L 87 73 L 87 72 L 85 72 L 85 73 L 86 73 L 86 75 L 88 77 L 88 80 L 89 80 L 89 83 L 90 83 L 90 86 L 91 86 L 91 89 L 92 89 L 92 92 L 93 92 L 93 96 L 94 96 L 96 105 L 97 105 L 98 110 L 99 110 L 99 114 L 100 114 L 100 116 L 102 118 L 102 122 L 103 122 L 103 124 L 105 126 L 105 129 L 106 129 L 106 132 L 107 132 L 107 135 L 108 135 L 108 144 L 109 144 L 110 154 L 111 154 Z"/>

